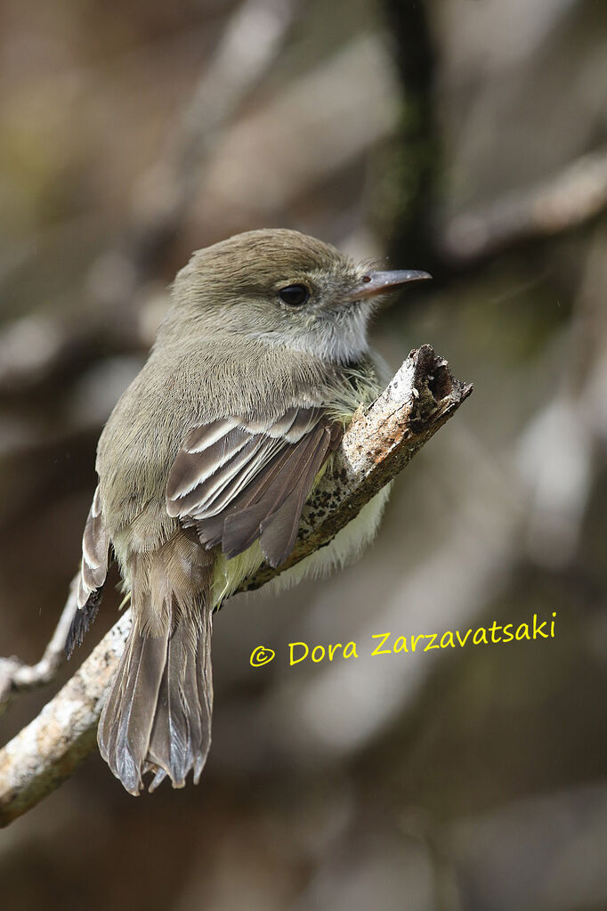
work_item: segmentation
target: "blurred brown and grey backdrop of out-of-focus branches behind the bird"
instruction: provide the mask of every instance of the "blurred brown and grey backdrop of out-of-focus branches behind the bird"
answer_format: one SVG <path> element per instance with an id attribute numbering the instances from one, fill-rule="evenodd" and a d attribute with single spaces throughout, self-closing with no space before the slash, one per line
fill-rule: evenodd
<path id="1" fill-rule="evenodd" d="M 431 271 L 376 346 L 475 387 L 357 565 L 220 612 L 200 785 L 134 800 L 93 754 L 0 834 L 3 906 L 607 908 L 604 12 L 2 0 L 0 654 L 54 629 L 97 436 L 190 251 L 284 226 Z M 369 657 L 553 611 L 551 640 Z M 295 640 L 363 646 L 289 668 Z"/>

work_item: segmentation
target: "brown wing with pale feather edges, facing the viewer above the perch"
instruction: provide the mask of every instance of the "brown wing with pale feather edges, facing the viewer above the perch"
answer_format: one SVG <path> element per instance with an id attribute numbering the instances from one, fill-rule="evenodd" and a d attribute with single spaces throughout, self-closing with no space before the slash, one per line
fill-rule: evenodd
<path id="1" fill-rule="evenodd" d="M 235 557 L 257 538 L 276 567 L 295 545 L 306 497 L 343 431 L 320 407 L 276 420 L 226 418 L 195 427 L 167 482 L 167 512 L 206 548 Z"/>

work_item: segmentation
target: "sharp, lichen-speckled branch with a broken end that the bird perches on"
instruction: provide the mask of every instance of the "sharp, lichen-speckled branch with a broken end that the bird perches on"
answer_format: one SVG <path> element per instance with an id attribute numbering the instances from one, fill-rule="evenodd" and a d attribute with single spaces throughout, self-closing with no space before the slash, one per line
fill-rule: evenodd
<path id="1" fill-rule="evenodd" d="M 430 345 L 412 351 L 378 400 L 357 412 L 333 470 L 310 499 L 288 563 L 262 567 L 242 590 L 258 589 L 334 537 L 404 468 L 470 394 Z M 0 751 L 0 824 L 64 781 L 95 745 L 96 722 L 130 628 L 127 611 L 66 686 Z"/>

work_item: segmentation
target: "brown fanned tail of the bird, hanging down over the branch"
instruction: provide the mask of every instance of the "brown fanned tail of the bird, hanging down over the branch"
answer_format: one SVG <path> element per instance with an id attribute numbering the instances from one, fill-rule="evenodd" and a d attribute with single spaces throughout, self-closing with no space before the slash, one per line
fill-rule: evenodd
<path id="1" fill-rule="evenodd" d="M 212 560 L 187 534 L 129 563 L 133 629 L 101 714 L 99 751 L 126 790 L 197 783 L 211 742 Z"/>

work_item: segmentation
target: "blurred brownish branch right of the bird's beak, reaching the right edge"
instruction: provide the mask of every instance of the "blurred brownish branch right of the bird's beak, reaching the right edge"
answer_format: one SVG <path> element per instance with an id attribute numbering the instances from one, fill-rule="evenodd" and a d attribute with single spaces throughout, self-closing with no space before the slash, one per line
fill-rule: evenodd
<path id="1" fill-rule="evenodd" d="M 448 259 L 470 266 L 529 238 L 577 228 L 607 207 L 607 150 L 577 159 L 526 192 L 509 193 L 489 209 L 469 212 L 448 226 Z"/>

